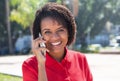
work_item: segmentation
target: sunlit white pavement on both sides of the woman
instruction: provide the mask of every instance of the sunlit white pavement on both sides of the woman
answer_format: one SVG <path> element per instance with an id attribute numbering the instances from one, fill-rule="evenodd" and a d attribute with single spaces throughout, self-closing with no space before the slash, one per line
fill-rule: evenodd
<path id="1" fill-rule="evenodd" d="M 31 55 L 0 57 L 0 73 L 22 77 L 22 62 Z M 94 81 L 120 81 L 120 55 L 86 54 Z"/>

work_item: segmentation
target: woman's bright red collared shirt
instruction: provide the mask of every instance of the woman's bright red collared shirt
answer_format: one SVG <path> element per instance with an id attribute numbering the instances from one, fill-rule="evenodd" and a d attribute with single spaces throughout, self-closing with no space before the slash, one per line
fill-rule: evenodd
<path id="1" fill-rule="evenodd" d="M 48 81 L 93 81 L 86 57 L 80 52 L 66 50 L 61 62 L 46 54 L 46 73 Z M 22 65 L 23 81 L 38 81 L 38 66 L 35 56 Z"/>

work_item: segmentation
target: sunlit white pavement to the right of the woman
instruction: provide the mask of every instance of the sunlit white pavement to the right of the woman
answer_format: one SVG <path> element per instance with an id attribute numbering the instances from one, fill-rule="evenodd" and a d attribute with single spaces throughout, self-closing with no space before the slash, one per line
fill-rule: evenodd
<path id="1" fill-rule="evenodd" d="M 87 55 L 94 81 L 120 81 L 120 55 Z"/>

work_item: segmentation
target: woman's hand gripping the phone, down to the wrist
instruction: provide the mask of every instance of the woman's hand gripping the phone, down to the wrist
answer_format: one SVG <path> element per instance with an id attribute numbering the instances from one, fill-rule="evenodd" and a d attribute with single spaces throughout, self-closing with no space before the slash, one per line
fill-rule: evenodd
<path id="1" fill-rule="evenodd" d="M 45 47 L 40 47 L 40 43 L 45 43 L 45 41 L 41 37 L 32 40 L 32 51 L 35 54 L 38 62 L 41 64 L 41 63 L 45 63 L 45 59 L 46 59 L 45 54 L 46 51 L 48 51 L 48 49 Z"/>

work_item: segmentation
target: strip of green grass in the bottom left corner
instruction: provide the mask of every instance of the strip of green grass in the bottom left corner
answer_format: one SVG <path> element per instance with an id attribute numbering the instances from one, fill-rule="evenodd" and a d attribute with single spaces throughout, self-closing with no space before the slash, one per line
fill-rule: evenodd
<path id="1" fill-rule="evenodd" d="M 22 78 L 0 73 L 0 81 L 22 81 Z"/>

